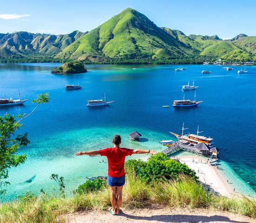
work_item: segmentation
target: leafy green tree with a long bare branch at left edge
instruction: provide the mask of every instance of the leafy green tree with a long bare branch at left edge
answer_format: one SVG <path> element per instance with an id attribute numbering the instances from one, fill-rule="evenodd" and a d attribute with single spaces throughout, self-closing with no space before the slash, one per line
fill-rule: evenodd
<path id="1" fill-rule="evenodd" d="M 27 158 L 26 154 L 15 154 L 19 148 L 23 148 L 29 144 L 27 133 L 16 134 L 16 131 L 23 126 L 20 123 L 24 118 L 30 116 L 40 104 L 46 104 L 49 101 L 48 93 L 42 93 L 37 95 L 32 102 L 36 103 L 36 107 L 28 115 L 19 114 L 16 118 L 14 115 L 5 114 L 0 116 L 0 195 L 6 193 L 2 187 L 10 184 L 5 181 L 8 177 L 8 171 L 11 167 L 16 167 L 19 164 L 23 164 Z"/>

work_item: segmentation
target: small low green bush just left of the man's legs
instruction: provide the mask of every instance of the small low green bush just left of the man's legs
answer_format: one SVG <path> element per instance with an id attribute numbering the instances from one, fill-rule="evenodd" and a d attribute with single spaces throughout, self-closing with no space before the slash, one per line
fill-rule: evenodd
<path id="1" fill-rule="evenodd" d="M 88 180 L 84 184 L 79 185 L 78 189 L 75 191 L 78 193 L 94 193 L 98 190 L 102 190 L 106 184 L 106 180 L 103 179 Z"/>

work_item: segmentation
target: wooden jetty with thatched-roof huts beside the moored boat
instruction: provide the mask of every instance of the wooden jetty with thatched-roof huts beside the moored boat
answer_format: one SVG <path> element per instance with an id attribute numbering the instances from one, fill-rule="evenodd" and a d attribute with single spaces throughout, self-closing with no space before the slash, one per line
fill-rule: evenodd
<path id="1" fill-rule="evenodd" d="M 167 149 L 162 151 L 167 156 L 170 156 L 171 154 L 175 153 L 176 151 L 183 150 L 187 152 L 192 152 L 200 156 L 206 156 L 206 157 L 214 157 L 216 158 L 218 156 L 218 151 L 216 147 L 211 148 L 205 143 L 199 143 L 199 144 L 192 144 L 189 141 L 186 140 L 178 140 L 175 144 L 172 144 Z"/>

